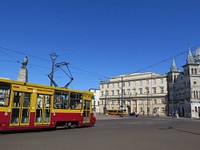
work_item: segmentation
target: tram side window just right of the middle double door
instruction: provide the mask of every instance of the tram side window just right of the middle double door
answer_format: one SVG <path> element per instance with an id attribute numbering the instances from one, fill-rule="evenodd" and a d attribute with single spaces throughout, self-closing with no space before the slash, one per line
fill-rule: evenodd
<path id="1" fill-rule="evenodd" d="M 54 108 L 68 109 L 69 108 L 69 93 L 63 91 L 56 91 L 54 96 Z"/>

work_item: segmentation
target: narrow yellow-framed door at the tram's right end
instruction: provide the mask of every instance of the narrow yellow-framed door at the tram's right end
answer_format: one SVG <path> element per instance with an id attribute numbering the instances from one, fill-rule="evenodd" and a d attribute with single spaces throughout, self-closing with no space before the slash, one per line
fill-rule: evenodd
<path id="1" fill-rule="evenodd" d="M 83 102 L 83 123 L 90 123 L 90 103 L 89 100 Z"/>

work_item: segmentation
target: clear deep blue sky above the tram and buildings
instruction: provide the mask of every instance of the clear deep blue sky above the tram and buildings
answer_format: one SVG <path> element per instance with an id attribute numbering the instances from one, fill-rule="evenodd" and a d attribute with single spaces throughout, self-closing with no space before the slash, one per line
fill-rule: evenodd
<path id="1" fill-rule="evenodd" d="M 0 0 L 0 77 L 17 79 L 28 55 L 29 82 L 49 84 L 52 52 L 70 63 L 72 89 L 138 70 L 165 74 L 173 56 L 182 69 L 187 54 L 177 55 L 200 46 L 199 8 L 199 0 Z M 62 72 L 55 80 L 69 81 Z"/>

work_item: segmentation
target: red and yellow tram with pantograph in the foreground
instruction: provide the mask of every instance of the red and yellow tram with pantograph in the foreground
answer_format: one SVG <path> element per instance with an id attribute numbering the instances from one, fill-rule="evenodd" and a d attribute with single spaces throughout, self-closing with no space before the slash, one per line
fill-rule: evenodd
<path id="1" fill-rule="evenodd" d="M 0 78 L 0 131 L 94 126 L 93 93 Z"/>

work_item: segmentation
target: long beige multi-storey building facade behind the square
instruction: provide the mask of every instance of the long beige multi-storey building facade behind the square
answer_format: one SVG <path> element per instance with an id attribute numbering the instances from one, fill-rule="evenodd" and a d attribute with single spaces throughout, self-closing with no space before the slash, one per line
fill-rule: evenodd
<path id="1" fill-rule="evenodd" d="M 165 116 L 167 110 L 166 75 L 153 72 L 111 77 L 100 82 L 100 113 Z"/>

